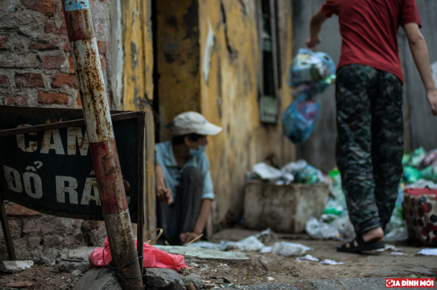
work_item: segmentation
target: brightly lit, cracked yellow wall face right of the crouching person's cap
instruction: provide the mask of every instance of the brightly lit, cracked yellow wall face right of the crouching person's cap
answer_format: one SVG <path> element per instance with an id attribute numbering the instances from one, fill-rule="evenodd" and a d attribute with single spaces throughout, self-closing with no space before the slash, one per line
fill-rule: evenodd
<path id="1" fill-rule="evenodd" d="M 209 81 L 201 74 L 202 109 L 206 118 L 224 128 L 209 138 L 207 154 L 216 191 L 215 221 L 222 224 L 242 214 L 245 174 L 270 153 L 280 165 L 294 160 L 294 146 L 282 137 L 280 125 L 261 125 L 259 119 L 259 38 L 256 1 L 221 0 L 200 2 L 200 67 L 209 25 L 215 45 L 210 57 Z M 221 3 L 226 23 L 221 15 Z M 292 4 L 278 0 L 282 88 L 280 113 L 292 102 L 285 85 L 287 66 L 292 62 Z M 227 30 L 227 31 L 226 31 Z M 226 33 L 228 42 L 226 42 Z"/>

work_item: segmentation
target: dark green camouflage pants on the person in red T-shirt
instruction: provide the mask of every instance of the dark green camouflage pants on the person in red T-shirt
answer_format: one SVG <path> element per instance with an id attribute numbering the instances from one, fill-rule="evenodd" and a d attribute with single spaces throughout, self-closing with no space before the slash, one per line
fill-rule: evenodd
<path id="1" fill-rule="evenodd" d="M 403 174 L 403 84 L 360 64 L 337 71 L 337 165 L 356 233 L 393 212 Z"/>

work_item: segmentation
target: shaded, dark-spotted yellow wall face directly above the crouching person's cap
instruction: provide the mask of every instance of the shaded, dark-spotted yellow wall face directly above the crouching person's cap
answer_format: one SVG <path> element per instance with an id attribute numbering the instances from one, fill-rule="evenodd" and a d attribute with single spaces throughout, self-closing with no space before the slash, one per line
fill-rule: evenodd
<path id="1" fill-rule="evenodd" d="M 179 113 L 200 111 L 199 27 L 197 0 L 157 0 L 159 132 Z"/>

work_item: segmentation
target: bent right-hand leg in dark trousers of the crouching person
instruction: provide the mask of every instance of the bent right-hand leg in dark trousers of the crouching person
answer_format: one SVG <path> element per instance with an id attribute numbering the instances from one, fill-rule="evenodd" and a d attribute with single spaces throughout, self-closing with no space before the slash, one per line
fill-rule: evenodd
<path id="1" fill-rule="evenodd" d="M 178 188 L 178 237 L 181 233 L 191 233 L 197 221 L 202 204 L 204 177 L 196 167 L 185 167 Z"/>

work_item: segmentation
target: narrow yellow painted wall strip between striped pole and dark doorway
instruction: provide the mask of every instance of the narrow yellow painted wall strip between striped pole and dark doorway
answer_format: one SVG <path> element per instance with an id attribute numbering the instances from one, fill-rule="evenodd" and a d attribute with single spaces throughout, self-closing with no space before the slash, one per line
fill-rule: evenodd
<path id="1" fill-rule="evenodd" d="M 153 99 L 152 8 L 150 0 L 123 0 L 122 109 L 146 111 L 145 119 L 145 231 L 156 228 L 155 132 Z M 134 233 L 136 230 L 134 229 Z"/>

